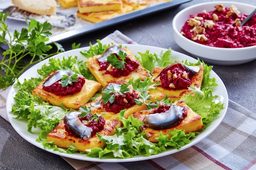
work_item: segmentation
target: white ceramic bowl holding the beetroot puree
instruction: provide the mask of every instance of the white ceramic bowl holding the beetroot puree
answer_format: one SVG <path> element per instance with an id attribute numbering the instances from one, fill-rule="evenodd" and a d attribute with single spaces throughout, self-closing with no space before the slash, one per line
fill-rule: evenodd
<path id="1" fill-rule="evenodd" d="M 207 45 L 202 45 L 185 38 L 180 34 L 182 26 L 188 20 L 190 14 L 198 14 L 203 10 L 213 11 L 216 4 L 223 4 L 224 7 L 230 7 L 234 4 L 241 14 L 249 14 L 256 7 L 240 2 L 206 2 L 196 4 L 186 9 L 183 9 L 173 18 L 173 36 L 175 42 L 185 51 L 199 57 L 204 62 L 218 65 L 236 65 L 243 64 L 256 59 L 256 46 L 249 46 L 244 48 L 218 48 Z"/>

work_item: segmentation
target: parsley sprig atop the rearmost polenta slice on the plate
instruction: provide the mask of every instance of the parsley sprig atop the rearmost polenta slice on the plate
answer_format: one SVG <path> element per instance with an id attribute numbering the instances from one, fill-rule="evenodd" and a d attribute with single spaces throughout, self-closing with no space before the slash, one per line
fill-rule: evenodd
<path id="1" fill-rule="evenodd" d="M 121 58 L 121 60 L 119 60 L 115 54 L 111 54 L 107 57 L 107 61 L 109 62 L 109 64 L 111 64 L 112 66 L 114 66 L 117 69 L 119 69 L 119 68 L 124 69 L 125 64 L 127 64 L 124 61 L 126 56 L 127 56 L 127 53 L 120 50 L 118 53 L 118 57 Z"/>

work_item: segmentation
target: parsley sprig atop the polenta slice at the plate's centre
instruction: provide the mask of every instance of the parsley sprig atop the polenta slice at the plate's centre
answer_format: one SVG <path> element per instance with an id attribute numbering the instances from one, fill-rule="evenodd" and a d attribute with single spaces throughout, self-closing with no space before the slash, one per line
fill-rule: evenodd
<path id="1" fill-rule="evenodd" d="M 121 84 L 120 89 L 115 89 L 115 86 L 111 85 L 103 90 L 101 99 L 103 100 L 103 104 L 107 102 L 113 103 L 115 101 L 115 95 L 124 95 L 124 93 L 128 93 L 129 91 L 130 88 L 128 88 L 128 85 Z"/>

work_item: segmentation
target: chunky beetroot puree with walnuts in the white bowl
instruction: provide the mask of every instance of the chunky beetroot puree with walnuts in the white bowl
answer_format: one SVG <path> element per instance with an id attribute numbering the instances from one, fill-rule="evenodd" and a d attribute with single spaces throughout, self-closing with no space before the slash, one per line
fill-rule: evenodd
<path id="1" fill-rule="evenodd" d="M 239 7 L 238 7 L 239 10 Z M 244 26 L 235 26 L 236 18 L 239 18 L 241 22 L 247 17 L 247 14 L 236 15 L 233 13 L 229 18 L 226 17 L 227 12 L 230 11 L 230 8 L 225 8 L 224 11 L 207 11 L 207 13 L 198 13 L 197 15 L 190 15 L 190 18 L 195 16 L 202 17 L 201 26 L 204 27 L 205 20 L 212 20 L 215 25 L 213 28 L 205 28 L 204 35 L 207 40 L 202 42 L 200 40 L 193 40 L 200 44 L 213 47 L 222 47 L 222 48 L 240 48 L 247 46 L 256 45 L 256 14 L 247 21 Z M 212 14 L 215 13 L 218 15 L 218 21 L 213 20 Z M 185 33 L 185 37 L 192 40 L 193 36 L 193 26 L 190 26 L 188 22 L 184 24 L 182 30 Z"/>

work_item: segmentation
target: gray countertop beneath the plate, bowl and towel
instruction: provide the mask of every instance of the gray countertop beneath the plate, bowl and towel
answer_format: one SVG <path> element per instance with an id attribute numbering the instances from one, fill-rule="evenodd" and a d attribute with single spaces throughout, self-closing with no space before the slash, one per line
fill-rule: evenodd
<path id="1" fill-rule="evenodd" d="M 181 49 L 173 40 L 172 19 L 180 10 L 193 4 L 207 2 L 209 0 L 193 0 L 185 4 L 167 9 L 157 13 L 137 18 L 115 26 L 101 29 L 88 35 L 73 38 L 62 42 L 65 50 L 71 49 L 73 42 L 81 43 L 81 47 L 88 46 L 89 42 L 94 44 L 97 39 L 102 39 L 115 30 L 127 35 L 138 44 L 159 46 L 162 48 L 171 47 L 173 50 L 192 57 Z M 211 0 L 216 1 L 216 0 Z M 229 1 L 229 0 L 227 0 Z M 232 0 L 240 2 L 240 0 Z M 244 3 L 256 6 L 255 0 L 245 0 Z M 0 50 L 2 53 L 2 50 Z M 224 82 L 229 99 L 241 106 L 256 113 L 256 60 L 247 64 L 236 66 L 220 66 L 211 63 L 215 71 Z M 58 155 L 33 146 L 25 141 L 12 128 L 11 124 L 0 117 L 0 169 L 6 170 L 73 170 L 66 161 Z"/>

